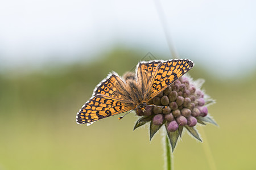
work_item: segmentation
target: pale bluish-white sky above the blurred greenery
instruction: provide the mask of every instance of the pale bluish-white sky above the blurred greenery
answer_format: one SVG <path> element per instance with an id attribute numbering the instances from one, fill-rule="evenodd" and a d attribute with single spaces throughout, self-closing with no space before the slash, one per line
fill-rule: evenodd
<path id="1" fill-rule="evenodd" d="M 254 69 L 256 1 L 160 2 L 181 58 L 216 74 Z M 2 69 L 79 61 L 81 55 L 89 60 L 120 44 L 145 54 L 171 55 L 154 1 L 0 2 Z"/>

